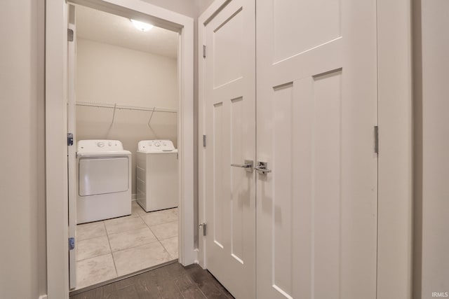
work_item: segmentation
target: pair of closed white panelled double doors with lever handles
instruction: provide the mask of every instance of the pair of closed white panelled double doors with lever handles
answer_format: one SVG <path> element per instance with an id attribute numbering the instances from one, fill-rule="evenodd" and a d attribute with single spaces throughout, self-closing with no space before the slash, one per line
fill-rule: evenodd
<path id="1" fill-rule="evenodd" d="M 204 25 L 208 270 L 236 298 L 374 299 L 376 1 L 232 0 Z"/>

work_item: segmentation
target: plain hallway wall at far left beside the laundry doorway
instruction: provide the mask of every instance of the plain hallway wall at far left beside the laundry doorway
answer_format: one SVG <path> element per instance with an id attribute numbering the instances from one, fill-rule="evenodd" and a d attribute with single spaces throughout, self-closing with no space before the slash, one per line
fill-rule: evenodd
<path id="1" fill-rule="evenodd" d="M 0 9 L 0 298 L 46 293 L 43 0 Z"/>

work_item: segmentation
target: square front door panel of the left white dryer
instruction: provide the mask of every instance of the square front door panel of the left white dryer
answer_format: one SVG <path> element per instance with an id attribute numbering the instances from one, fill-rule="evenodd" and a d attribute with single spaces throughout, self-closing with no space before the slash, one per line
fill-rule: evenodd
<path id="1" fill-rule="evenodd" d="M 80 158 L 79 195 L 98 195 L 127 191 L 128 157 Z"/>

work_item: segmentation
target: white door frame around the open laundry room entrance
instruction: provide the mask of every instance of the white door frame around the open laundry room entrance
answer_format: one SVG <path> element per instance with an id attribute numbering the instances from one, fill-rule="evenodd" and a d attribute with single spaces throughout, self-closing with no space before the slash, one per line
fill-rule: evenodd
<path id="1" fill-rule="evenodd" d="M 194 20 L 139 0 L 74 0 L 180 32 L 178 48 L 179 260 L 194 250 Z M 67 3 L 46 1 L 46 232 L 48 298 L 69 298 L 67 204 Z"/>

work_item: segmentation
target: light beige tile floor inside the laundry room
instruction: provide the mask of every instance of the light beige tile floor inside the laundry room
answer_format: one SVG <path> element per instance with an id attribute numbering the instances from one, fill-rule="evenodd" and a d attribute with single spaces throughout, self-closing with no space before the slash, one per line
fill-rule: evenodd
<path id="1" fill-rule="evenodd" d="M 177 208 L 132 214 L 76 227 L 76 289 L 177 258 Z"/>

